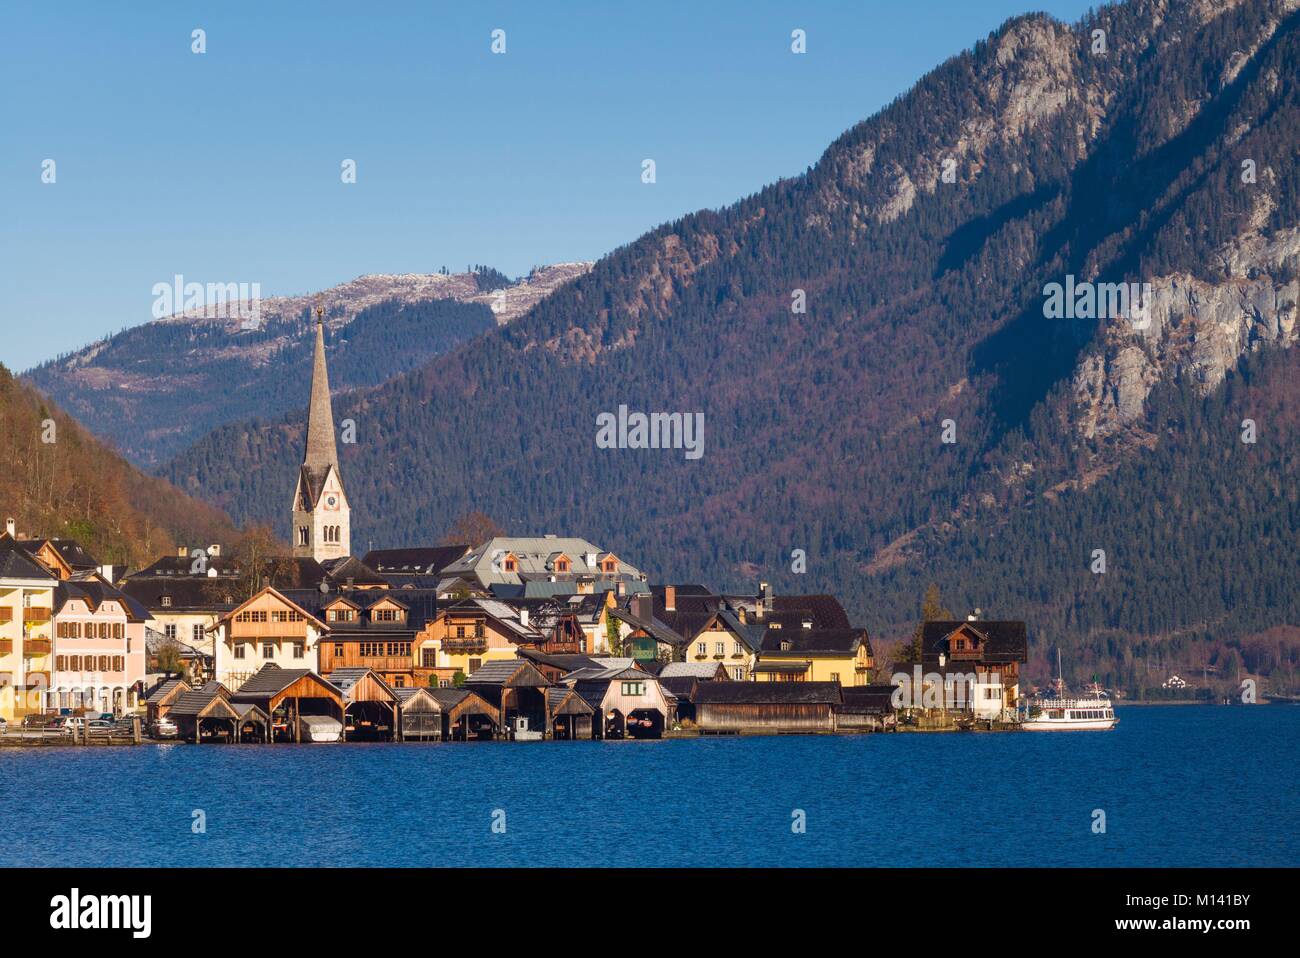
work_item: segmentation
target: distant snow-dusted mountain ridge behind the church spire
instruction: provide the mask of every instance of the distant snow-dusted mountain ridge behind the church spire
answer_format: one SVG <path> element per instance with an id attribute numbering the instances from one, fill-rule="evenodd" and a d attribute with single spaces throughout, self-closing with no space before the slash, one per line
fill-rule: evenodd
<path id="1" fill-rule="evenodd" d="M 26 378 L 127 459 L 156 467 L 216 426 L 302 404 L 317 304 L 334 383 L 355 389 L 515 320 L 589 268 L 541 266 L 517 282 L 486 266 L 363 276 L 316 295 L 264 299 L 256 324 L 209 303 L 60 356 Z"/>

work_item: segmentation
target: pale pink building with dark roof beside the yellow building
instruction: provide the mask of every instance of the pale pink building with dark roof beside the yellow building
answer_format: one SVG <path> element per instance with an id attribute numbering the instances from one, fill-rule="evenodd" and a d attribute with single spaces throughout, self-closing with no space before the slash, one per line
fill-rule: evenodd
<path id="1" fill-rule="evenodd" d="M 60 582 L 46 707 L 134 711 L 143 692 L 150 619 L 148 610 L 98 575 Z"/>

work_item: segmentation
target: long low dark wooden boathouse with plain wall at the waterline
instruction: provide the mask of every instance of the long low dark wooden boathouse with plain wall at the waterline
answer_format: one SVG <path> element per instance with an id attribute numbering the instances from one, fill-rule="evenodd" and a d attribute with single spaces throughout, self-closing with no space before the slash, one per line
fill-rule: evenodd
<path id="1" fill-rule="evenodd" d="M 701 732 L 835 732 L 838 682 L 699 682 Z"/>

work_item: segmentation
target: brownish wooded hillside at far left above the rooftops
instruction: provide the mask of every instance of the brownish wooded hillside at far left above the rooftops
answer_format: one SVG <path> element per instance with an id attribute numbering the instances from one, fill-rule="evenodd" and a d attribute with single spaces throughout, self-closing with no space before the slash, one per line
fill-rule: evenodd
<path id="1" fill-rule="evenodd" d="M 105 564 L 238 537 L 220 510 L 146 476 L 3 365 L 0 460 L 0 503 L 20 532 L 75 538 Z"/>

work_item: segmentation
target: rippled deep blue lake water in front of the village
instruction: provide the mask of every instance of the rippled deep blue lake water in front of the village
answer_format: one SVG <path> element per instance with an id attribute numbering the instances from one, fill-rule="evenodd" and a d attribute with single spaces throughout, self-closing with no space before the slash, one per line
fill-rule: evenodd
<path id="1" fill-rule="evenodd" d="M 1300 864 L 1300 708 L 1121 716 L 1109 733 L 3 749 L 0 864 Z"/>

